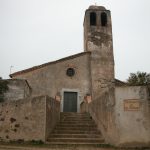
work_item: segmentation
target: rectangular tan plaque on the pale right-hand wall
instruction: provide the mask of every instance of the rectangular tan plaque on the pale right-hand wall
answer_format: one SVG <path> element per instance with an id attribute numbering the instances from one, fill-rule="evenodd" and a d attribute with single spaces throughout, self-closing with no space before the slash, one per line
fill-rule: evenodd
<path id="1" fill-rule="evenodd" d="M 140 101 L 139 100 L 124 100 L 124 111 L 139 111 L 140 110 Z"/>

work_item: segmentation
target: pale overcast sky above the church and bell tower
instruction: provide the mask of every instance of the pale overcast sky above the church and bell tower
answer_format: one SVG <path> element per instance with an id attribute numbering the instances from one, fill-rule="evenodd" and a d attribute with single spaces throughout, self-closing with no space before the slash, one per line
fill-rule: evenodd
<path id="1" fill-rule="evenodd" d="M 111 11 L 115 78 L 150 73 L 150 0 L 0 0 L 0 76 L 83 52 L 95 4 Z"/>

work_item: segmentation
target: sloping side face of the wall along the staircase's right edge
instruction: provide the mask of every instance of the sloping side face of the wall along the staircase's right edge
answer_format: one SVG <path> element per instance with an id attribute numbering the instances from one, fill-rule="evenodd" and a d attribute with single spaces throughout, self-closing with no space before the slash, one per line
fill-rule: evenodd
<path id="1" fill-rule="evenodd" d="M 116 144 L 118 140 L 114 106 L 114 88 L 106 90 L 99 98 L 89 103 L 88 107 L 84 106 L 109 144 Z"/>

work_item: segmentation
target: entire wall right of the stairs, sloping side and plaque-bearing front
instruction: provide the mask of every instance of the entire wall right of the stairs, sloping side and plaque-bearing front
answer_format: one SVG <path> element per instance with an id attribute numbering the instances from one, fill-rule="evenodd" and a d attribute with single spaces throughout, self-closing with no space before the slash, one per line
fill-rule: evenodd
<path id="1" fill-rule="evenodd" d="M 114 95 L 115 94 L 115 95 Z M 106 142 L 117 146 L 150 145 L 150 98 L 145 86 L 122 86 L 81 104 L 89 112 Z"/>

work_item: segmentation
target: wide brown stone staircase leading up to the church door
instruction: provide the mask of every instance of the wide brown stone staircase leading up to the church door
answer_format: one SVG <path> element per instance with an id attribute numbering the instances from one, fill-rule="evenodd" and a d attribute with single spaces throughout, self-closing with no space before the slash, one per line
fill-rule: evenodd
<path id="1" fill-rule="evenodd" d="M 61 113 L 49 144 L 103 144 L 104 138 L 87 113 Z"/>

